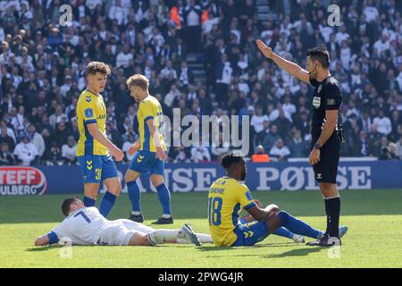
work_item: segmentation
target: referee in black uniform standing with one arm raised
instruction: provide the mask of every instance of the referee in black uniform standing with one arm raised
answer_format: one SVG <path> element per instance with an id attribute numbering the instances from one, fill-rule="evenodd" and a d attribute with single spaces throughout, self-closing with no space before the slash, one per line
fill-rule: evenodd
<path id="1" fill-rule="evenodd" d="M 325 202 L 327 231 L 322 238 L 307 243 L 315 246 L 340 245 L 339 213 L 340 198 L 336 184 L 339 164 L 340 142 L 343 140 L 338 128 L 339 107 L 342 102 L 338 80 L 329 71 L 328 51 L 315 47 L 307 52 L 307 71 L 297 63 L 291 63 L 272 52 L 261 40 L 257 46 L 265 57 L 271 59 L 290 75 L 311 84 L 312 99 L 312 147 L 308 158 L 313 165 L 315 180 L 318 181 Z"/>

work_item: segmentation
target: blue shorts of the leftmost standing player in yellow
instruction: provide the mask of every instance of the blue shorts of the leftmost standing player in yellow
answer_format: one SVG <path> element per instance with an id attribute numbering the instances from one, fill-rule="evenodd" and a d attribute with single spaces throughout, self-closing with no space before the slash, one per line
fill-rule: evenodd
<path id="1" fill-rule="evenodd" d="M 87 182 L 100 183 L 106 179 L 118 177 L 116 165 L 111 156 L 85 155 L 77 158 L 84 184 Z"/>

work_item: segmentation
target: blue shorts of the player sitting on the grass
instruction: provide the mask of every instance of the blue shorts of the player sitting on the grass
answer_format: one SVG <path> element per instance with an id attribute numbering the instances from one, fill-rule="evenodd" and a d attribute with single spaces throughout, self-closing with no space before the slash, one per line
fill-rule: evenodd
<path id="1" fill-rule="evenodd" d="M 244 220 L 240 220 L 244 222 Z M 253 222 L 239 224 L 234 230 L 238 239 L 231 245 L 232 247 L 251 247 L 255 243 L 264 240 L 269 234 L 270 230 L 265 222 Z"/>

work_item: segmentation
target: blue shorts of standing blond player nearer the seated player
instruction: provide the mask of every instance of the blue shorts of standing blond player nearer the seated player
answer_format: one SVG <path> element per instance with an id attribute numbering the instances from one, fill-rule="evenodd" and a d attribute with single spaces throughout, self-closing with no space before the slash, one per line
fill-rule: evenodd
<path id="1" fill-rule="evenodd" d="M 155 152 L 139 150 L 132 158 L 129 169 L 139 173 L 149 172 L 163 176 L 164 162 L 156 157 Z"/>

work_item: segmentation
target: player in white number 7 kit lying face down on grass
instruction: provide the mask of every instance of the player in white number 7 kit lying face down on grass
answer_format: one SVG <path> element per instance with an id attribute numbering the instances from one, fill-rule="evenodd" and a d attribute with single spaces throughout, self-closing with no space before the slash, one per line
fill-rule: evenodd
<path id="1" fill-rule="evenodd" d="M 109 221 L 95 206 L 86 207 L 78 198 L 66 198 L 62 204 L 66 216 L 52 231 L 35 240 L 46 246 L 70 239 L 74 245 L 152 246 L 162 243 L 212 242 L 211 236 L 195 233 L 188 223 L 179 230 L 155 230 L 130 220 Z"/>

